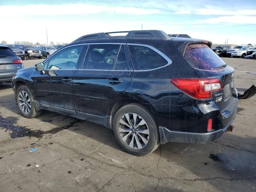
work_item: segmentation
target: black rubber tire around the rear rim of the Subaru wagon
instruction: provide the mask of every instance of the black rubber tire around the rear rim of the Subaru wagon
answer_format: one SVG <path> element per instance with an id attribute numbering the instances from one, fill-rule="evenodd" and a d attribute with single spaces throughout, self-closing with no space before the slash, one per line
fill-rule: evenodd
<path id="1" fill-rule="evenodd" d="M 148 139 L 148 143 L 143 148 L 140 148 L 140 149 L 132 148 L 122 140 L 122 137 L 119 132 L 119 121 L 121 120 L 122 117 L 124 117 L 124 114 L 127 114 L 127 113 L 137 114 L 146 122 L 146 126 L 148 127 L 148 131 L 149 131 L 149 139 Z M 150 113 L 150 111 L 147 110 L 142 104 L 139 104 L 139 103 L 131 103 L 131 104 L 125 105 L 116 112 L 116 115 L 114 116 L 113 130 L 116 136 L 116 140 L 120 145 L 121 149 L 135 156 L 143 156 L 143 155 L 149 154 L 154 150 L 156 150 L 160 145 L 160 136 L 159 136 L 157 123 L 154 117 L 152 116 L 152 114 Z"/>

